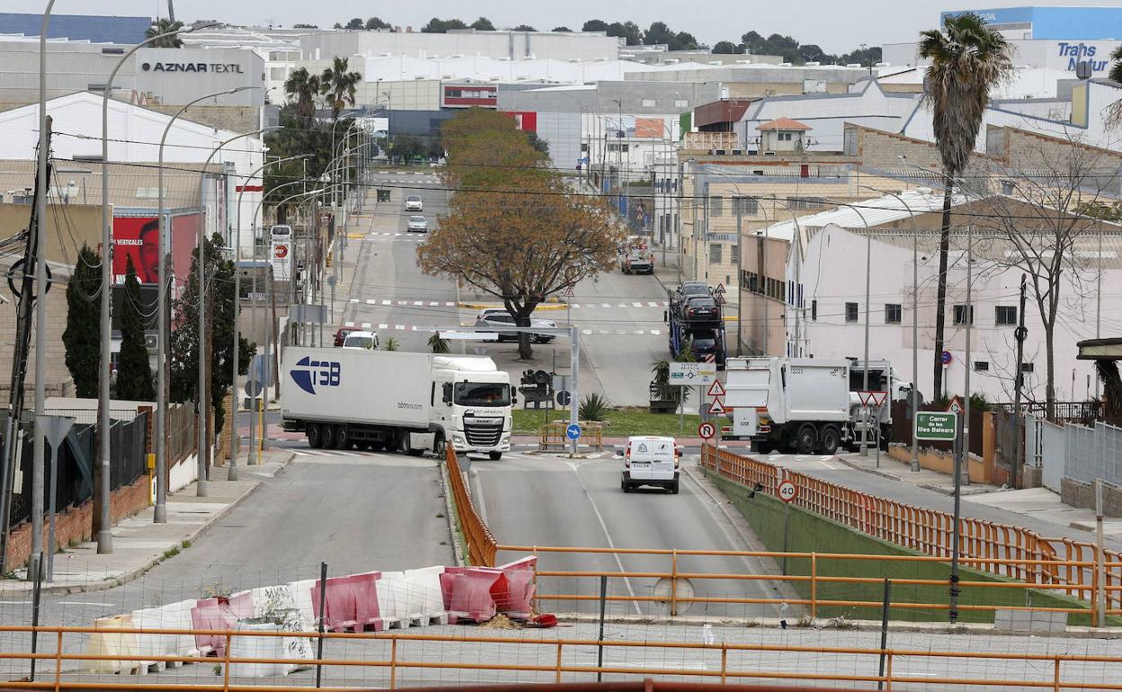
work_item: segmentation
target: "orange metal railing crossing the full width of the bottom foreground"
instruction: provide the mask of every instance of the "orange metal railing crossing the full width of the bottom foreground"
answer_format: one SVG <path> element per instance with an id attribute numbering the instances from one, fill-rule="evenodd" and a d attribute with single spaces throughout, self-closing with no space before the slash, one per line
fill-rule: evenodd
<path id="1" fill-rule="evenodd" d="M 127 653 L 112 647 L 105 649 L 116 653 L 76 654 L 66 651 L 66 635 L 104 635 L 107 630 L 95 627 L 13 627 L 0 626 L 0 631 L 25 633 L 35 631 L 46 640 L 53 640 L 53 651 L 42 653 L 4 652 L 0 659 L 31 661 L 42 663 L 43 667 L 53 664 L 53 670 L 43 671 L 46 680 L 20 680 L 4 684 L 10 690 L 75 690 L 75 689 L 119 689 L 119 690 L 205 690 L 212 692 L 302 692 L 315 690 L 319 685 L 311 684 L 267 684 L 252 680 L 250 684 L 231 681 L 231 666 L 237 671 L 241 664 L 273 664 L 278 666 L 298 664 L 301 666 L 339 666 L 364 674 L 376 671 L 388 676 L 388 689 L 402 686 L 401 677 L 408 671 L 490 671 L 495 674 L 512 675 L 517 673 L 534 673 L 539 679 L 552 677 L 553 682 L 562 682 L 568 675 L 570 681 L 579 676 L 600 676 L 603 674 L 635 676 L 666 675 L 693 677 L 710 682 L 726 683 L 739 680 L 776 680 L 804 682 L 846 682 L 846 683 L 880 683 L 883 689 L 891 690 L 893 684 L 922 685 L 925 689 L 935 685 L 969 685 L 969 686 L 1009 686 L 1037 688 L 1060 691 L 1066 689 L 1122 690 L 1122 656 L 1073 653 L 1018 653 L 1018 652 L 977 652 L 977 651 L 938 651 L 879 648 L 859 646 L 795 646 L 790 644 L 767 643 L 697 643 L 697 642 L 637 642 L 615 639 L 555 637 L 517 637 L 513 636 L 458 636 L 458 635 L 419 635 L 398 631 L 388 633 L 312 633 L 312 631 L 265 631 L 265 630 L 221 630 L 221 629 L 145 629 L 122 628 L 111 631 L 121 635 L 204 635 L 224 639 L 223 654 L 218 657 L 204 656 L 157 656 L 149 654 Z M 294 658 L 284 656 L 245 657 L 233 656 L 233 642 L 251 638 L 306 638 L 323 640 L 344 640 L 377 647 L 376 651 L 362 651 L 359 656 L 348 658 Z M 412 646 L 411 646 L 412 645 Z M 517 646 L 522 649 L 537 649 L 543 655 L 527 654 L 526 658 L 535 663 L 524 663 L 522 657 L 516 663 L 505 663 L 497 657 L 482 657 L 478 662 L 462 661 L 460 654 L 465 645 L 494 647 Z M 596 662 L 596 651 L 617 649 L 626 653 L 646 652 L 643 659 L 657 658 L 663 665 L 637 663 L 627 665 L 619 663 L 599 664 Z M 548 654 L 545 652 L 549 652 Z M 775 654 L 807 654 L 815 657 L 829 657 L 835 662 L 833 670 L 790 670 L 782 666 L 782 656 Z M 627 655 L 627 654 L 625 654 Z M 904 661 L 923 662 L 923 673 L 909 674 L 900 672 Z M 546 663 L 548 661 L 548 663 Z M 680 662 L 695 661 L 703 665 L 686 666 Z M 883 667 L 879 663 L 883 661 Z M 980 662 L 1006 662 L 1006 677 L 971 675 L 972 671 L 986 665 L 969 665 Z M 109 676 L 108 682 L 89 682 L 73 675 L 74 671 L 64 671 L 67 664 L 79 663 L 86 666 L 96 662 L 151 662 L 151 663 L 205 663 L 220 664 L 221 680 L 213 684 L 200 684 L 197 680 L 187 679 L 181 682 L 153 682 L 151 679 L 129 676 Z M 587 663 L 585 663 L 587 662 Z M 677 664 L 677 665 L 675 665 Z M 857 671 L 870 671 L 861 674 Z M 875 670 L 882 673 L 873 673 Z M 946 674 L 930 671 L 946 671 Z M 852 671 L 852 672 L 850 672 Z M 960 672 L 959 672 L 960 671 Z M 1010 671 L 1017 671 L 1019 679 L 1012 679 Z M 955 674 L 951 674 L 951 673 Z M 1080 676 L 1079 673 L 1084 675 Z M 72 679 L 75 677 L 75 679 Z M 134 682 L 134 680 L 136 682 Z M 139 682 L 144 680 L 145 682 Z M 544 682 L 545 680 L 542 680 Z M 255 684 L 256 683 L 256 684 Z M 333 689 L 333 688 L 322 688 Z"/>

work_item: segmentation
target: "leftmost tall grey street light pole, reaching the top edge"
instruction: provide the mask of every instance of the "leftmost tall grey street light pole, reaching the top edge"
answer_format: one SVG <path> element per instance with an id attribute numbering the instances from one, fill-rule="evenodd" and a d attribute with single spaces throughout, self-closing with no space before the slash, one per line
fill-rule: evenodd
<path id="1" fill-rule="evenodd" d="M 44 227 L 47 222 L 47 28 L 50 25 L 50 10 L 55 0 L 48 0 L 47 9 L 43 11 L 43 28 L 39 30 L 39 156 L 38 192 L 35 196 L 35 446 L 31 471 L 31 555 L 27 562 L 27 579 L 37 581 L 43 573 L 43 472 L 46 442 L 46 431 L 43 428 L 46 416 L 46 388 L 43 378 L 46 377 L 44 365 L 47 353 L 47 248 L 44 239 L 47 237 Z M 104 289 L 102 289 L 104 290 Z M 16 396 L 16 393 L 11 393 Z M 17 425 L 12 430 L 18 431 Z M 107 490 L 108 491 L 108 490 Z M 54 552 L 55 546 L 49 546 Z"/>

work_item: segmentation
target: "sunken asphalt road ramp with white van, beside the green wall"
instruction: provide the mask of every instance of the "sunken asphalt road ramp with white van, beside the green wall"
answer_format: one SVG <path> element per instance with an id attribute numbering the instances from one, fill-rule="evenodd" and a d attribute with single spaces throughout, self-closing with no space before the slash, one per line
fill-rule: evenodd
<path id="1" fill-rule="evenodd" d="M 692 463 L 692 462 L 689 462 Z M 509 454 L 502 462 L 473 460 L 471 476 L 480 511 L 499 543 L 507 545 L 583 546 L 597 548 L 763 550 L 742 523 L 733 523 L 689 476 L 681 476 L 679 495 L 656 489 L 624 493 L 618 458 L 569 460 L 552 455 Z M 743 536 L 743 537 L 742 537 Z M 499 562 L 521 556 L 502 553 Z M 610 553 L 541 553 L 540 570 L 670 572 L 670 555 Z M 680 556 L 679 572 L 766 574 L 774 565 L 736 556 Z M 692 580 L 698 597 L 774 598 L 776 582 Z M 581 596 L 553 600 L 543 609 L 597 612 L 596 576 L 540 578 L 539 593 Z M 688 593 L 690 584 L 680 584 Z M 609 613 L 665 615 L 666 603 L 638 600 L 665 596 L 669 583 L 657 578 L 609 578 L 608 593 L 618 600 Z M 633 600 L 636 599 L 636 600 Z M 789 611 L 775 605 L 691 603 L 680 615 L 702 617 L 775 617 Z"/>

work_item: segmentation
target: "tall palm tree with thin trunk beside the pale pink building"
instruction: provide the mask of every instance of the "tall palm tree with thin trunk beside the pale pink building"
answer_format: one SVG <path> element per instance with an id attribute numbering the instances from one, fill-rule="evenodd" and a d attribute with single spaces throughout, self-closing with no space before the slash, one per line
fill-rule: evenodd
<path id="1" fill-rule="evenodd" d="M 947 251 L 950 246 L 950 197 L 955 177 L 969 163 L 990 91 L 1012 70 L 1005 37 L 974 12 L 947 17 L 942 31 L 920 33 L 919 56 L 928 58 L 925 99 L 931 102 L 936 146 L 942 159 L 942 232 L 935 315 L 935 394 L 942 391 L 942 344 L 947 303 Z"/>

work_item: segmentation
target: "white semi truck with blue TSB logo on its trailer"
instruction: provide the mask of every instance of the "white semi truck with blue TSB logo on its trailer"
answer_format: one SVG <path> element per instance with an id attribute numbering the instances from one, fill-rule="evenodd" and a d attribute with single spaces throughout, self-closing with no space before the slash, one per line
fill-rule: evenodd
<path id="1" fill-rule="evenodd" d="M 511 449 L 511 380 L 490 358 L 286 347 L 285 430 L 312 448 L 436 454 Z"/>

